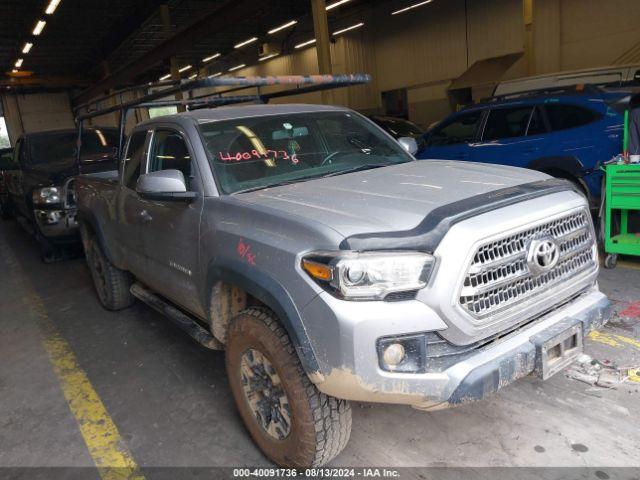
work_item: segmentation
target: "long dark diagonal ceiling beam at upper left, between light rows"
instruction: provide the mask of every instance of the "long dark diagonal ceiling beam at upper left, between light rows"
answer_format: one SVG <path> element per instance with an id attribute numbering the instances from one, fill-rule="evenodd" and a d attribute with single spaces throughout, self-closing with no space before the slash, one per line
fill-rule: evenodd
<path id="1" fill-rule="evenodd" d="M 255 15 L 255 11 L 254 0 L 227 0 L 221 3 L 191 25 L 178 30 L 171 38 L 141 58 L 114 70 L 111 75 L 81 92 L 73 99 L 74 104 L 86 102 L 109 89 L 131 83 L 136 77 L 165 62 L 168 58 L 189 51 L 195 42 L 210 37 L 212 32 L 242 23 L 249 15 Z"/>

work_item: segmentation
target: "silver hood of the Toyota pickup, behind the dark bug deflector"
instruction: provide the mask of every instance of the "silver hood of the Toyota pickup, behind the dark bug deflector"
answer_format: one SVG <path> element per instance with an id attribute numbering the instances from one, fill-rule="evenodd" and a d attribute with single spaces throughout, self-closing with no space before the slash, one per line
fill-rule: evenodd
<path id="1" fill-rule="evenodd" d="M 410 230 L 442 205 L 547 178 L 522 168 L 421 160 L 258 190 L 236 198 L 321 222 L 348 237 Z"/>

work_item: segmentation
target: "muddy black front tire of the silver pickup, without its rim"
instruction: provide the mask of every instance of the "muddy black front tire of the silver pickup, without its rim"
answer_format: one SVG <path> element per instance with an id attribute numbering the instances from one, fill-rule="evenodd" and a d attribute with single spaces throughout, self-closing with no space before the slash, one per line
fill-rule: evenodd
<path id="1" fill-rule="evenodd" d="M 291 411 L 288 436 L 270 436 L 257 420 L 243 391 L 242 357 L 258 350 L 273 365 Z M 351 406 L 321 393 L 302 369 L 289 336 L 267 308 L 248 308 L 229 326 L 226 345 L 231 391 L 251 437 L 263 453 L 285 468 L 319 467 L 338 455 L 351 435 Z"/>

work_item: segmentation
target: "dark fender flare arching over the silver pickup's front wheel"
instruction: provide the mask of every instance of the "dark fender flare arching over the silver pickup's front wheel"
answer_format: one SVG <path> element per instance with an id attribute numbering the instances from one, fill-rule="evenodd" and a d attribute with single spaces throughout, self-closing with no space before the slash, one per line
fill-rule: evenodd
<path id="1" fill-rule="evenodd" d="M 207 313 L 211 305 L 211 292 L 216 282 L 223 281 L 245 290 L 249 295 L 264 303 L 278 316 L 291 339 L 302 368 L 312 379 L 322 378 L 315 352 L 311 347 L 309 337 L 300 312 L 289 292 L 271 275 L 238 260 L 214 258 L 207 268 L 205 284 L 205 305 Z"/>

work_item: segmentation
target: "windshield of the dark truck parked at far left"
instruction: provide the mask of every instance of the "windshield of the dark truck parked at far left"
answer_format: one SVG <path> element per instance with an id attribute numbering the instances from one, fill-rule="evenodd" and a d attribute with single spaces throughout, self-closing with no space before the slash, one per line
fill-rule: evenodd
<path id="1" fill-rule="evenodd" d="M 33 135 L 29 139 L 32 164 L 75 162 L 78 134 L 74 131 L 49 132 Z M 83 131 L 82 154 L 100 155 L 113 151 L 118 145 L 115 128 L 94 128 Z"/>

